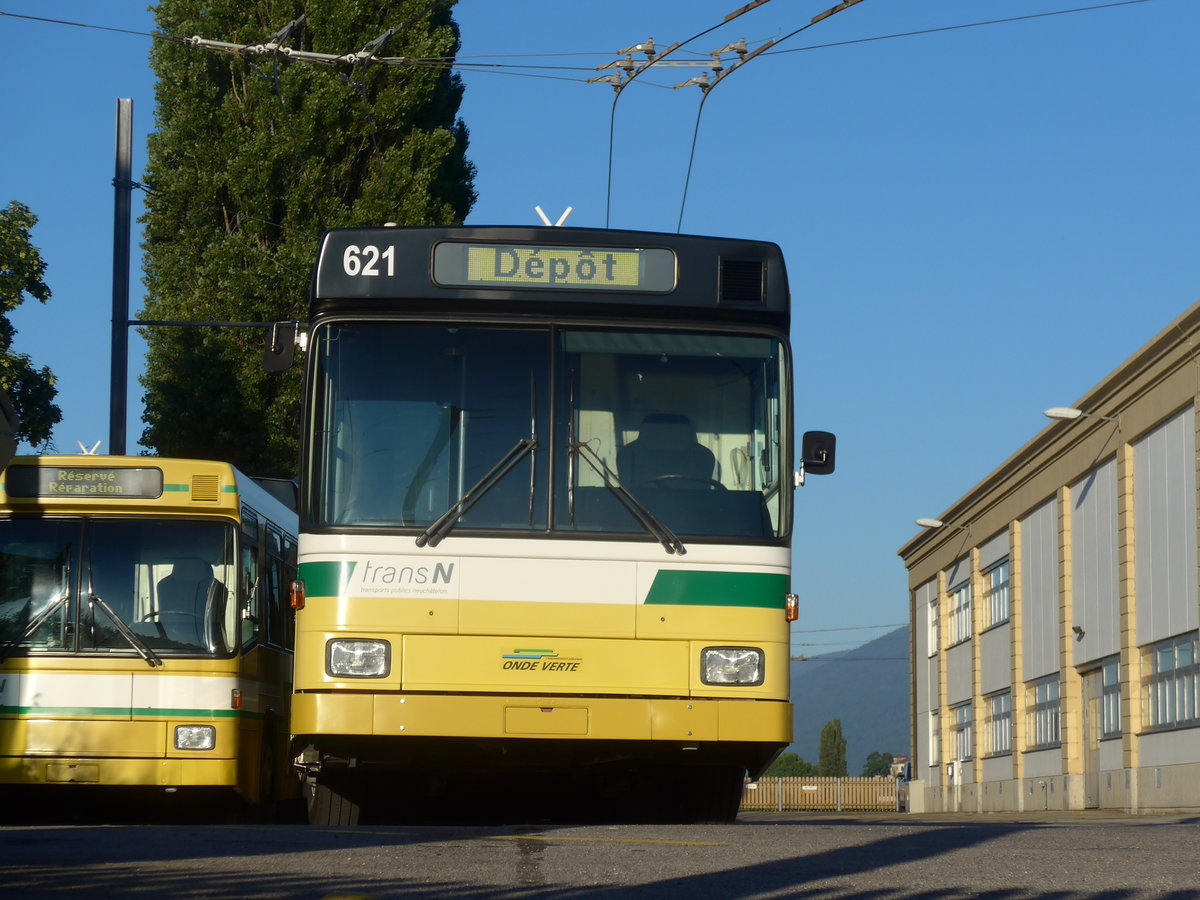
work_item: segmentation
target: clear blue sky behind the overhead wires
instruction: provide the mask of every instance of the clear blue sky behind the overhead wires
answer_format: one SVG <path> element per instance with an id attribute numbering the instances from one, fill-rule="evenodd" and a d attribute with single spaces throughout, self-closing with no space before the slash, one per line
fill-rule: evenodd
<path id="1" fill-rule="evenodd" d="M 686 40 L 744 2 L 460 2 L 461 61 L 491 64 L 461 70 L 479 170 L 469 221 L 572 206 L 568 224 L 676 230 L 701 94 L 671 85 L 695 72 L 650 70 L 614 116 L 612 89 L 586 79 L 620 48 Z M 668 59 L 779 41 L 830 5 L 770 0 Z M 838 473 L 799 493 L 797 652 L 904 623 L 896 550 L 913 520 L 1200 298 L 1200 4 L 1044 14 L 1092 5 L 863 0 L 708 97 L 683 230 L 782 246 L 799 427 L 839 436 Z M 115 107 L 133 98 L 138 180 L 154 127 L 145 6 L 0 0 L 13 14 L 0 16 L 0 204 L 40 216 L 54 292 L 12 316 L 16 348 L 59 378 L 59 451 L 108 448 Z M 136 310 L 137 260 L 132 293 Z M 132 451 L 142 350 L 132 336 Z"/>

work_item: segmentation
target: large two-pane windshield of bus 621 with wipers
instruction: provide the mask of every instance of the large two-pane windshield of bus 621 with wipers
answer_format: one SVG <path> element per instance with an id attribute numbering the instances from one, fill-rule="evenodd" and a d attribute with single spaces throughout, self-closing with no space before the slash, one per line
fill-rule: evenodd
<path id="1" fill-rule="evenodd" d="M 700 540 L 788 528 L 774 337 L 352 322 L 320 325 L 316 349 L 319 526 L 662 539 L 660 522 Z"/>

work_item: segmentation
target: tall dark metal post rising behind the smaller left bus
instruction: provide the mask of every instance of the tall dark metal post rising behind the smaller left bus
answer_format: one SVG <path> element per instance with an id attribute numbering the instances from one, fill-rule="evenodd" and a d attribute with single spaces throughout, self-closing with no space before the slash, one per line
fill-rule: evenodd
<path id="1" fill-rule="evenodd" d="M 113 352 L 108 400 L 108 452 L 125 455 L 130 372 L 130 232 L 133 193 L 133 100 L 116 101 L 116 174 L 113 176 Z"/>

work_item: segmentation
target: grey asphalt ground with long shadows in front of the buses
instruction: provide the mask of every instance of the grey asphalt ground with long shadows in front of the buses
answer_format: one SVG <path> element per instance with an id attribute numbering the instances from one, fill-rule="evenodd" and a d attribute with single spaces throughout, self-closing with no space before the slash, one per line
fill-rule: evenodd
<path id="1" fill-rule="evenodd" d="M 743 814 L 733 826 L 19 824 L 5 898 L 1200 898 L 1200 816 Z"/>

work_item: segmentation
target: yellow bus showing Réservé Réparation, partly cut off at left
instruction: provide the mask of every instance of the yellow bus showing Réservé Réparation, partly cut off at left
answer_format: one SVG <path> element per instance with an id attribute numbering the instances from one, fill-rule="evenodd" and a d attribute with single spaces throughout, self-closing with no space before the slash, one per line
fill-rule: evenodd
<path id="1" fill-rule="evenodd" d="M 294 797 L 277 487 L 149 456 L 17 457 L 0 482 L 0 793 Z"/>

